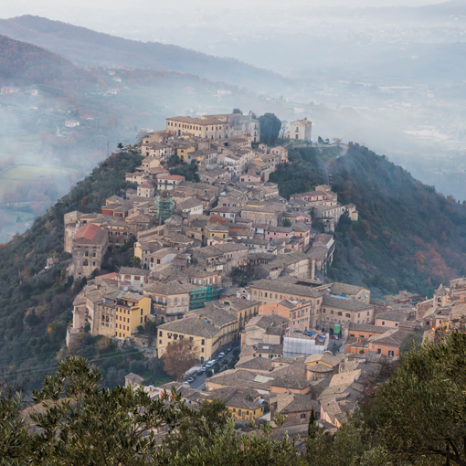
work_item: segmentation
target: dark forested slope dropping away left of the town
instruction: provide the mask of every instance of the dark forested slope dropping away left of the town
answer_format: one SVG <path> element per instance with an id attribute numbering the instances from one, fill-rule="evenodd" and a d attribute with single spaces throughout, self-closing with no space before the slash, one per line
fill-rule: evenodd
<path id="1" fill-rule="evenodd" d="M 141 160 L 133 154 L 111 156 L 24 235 L 0 245 L 0 368 L 54 367 L 72 318 L 72 302 L 84 285 L 65 278 L 70 256 L 63 252 L 63 216 L 73 210 L 98 211 L 107 197 L 121 195 L 127 185 L 124 174 Z M 60 262 L 44 270 L 51 256 Z M 87 355 L 94 354 L 91 350 Z M 31 374 L 40 380 L 44 372 Z"/>

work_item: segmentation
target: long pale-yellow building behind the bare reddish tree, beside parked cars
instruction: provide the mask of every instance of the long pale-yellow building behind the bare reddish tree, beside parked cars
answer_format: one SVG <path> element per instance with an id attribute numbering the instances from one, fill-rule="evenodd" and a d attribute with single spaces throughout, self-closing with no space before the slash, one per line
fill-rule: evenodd
<path id="1" fill-rule="evenodd" d="M 198 310 L 201 311 L 201 310 Z M 173 322 L 159 325 L 157 334 L 157 355 L 162 357 L 169 344 L 180 340 L 192 340 L 198 350 L 199 361 L 209 361 L 225 344 L 233 341 L 238 334 L 238 321 L 228 312 L 202 310 L 202 317 L 194 313 Z"/>

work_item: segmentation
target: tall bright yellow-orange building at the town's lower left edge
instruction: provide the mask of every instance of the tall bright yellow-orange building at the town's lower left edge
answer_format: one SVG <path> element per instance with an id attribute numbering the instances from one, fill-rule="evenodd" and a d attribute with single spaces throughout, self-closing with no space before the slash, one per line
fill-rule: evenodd
<path id="1" fill-rule="evenodd" d="M 116 303 L 115 337 L 129 338 L 139 325 L 151 319 L 151 298 L 125 292 Z"/>

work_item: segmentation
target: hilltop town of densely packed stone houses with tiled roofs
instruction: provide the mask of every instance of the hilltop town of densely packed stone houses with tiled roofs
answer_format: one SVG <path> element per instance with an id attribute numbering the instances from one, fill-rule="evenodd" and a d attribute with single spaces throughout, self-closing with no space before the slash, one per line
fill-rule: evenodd
<path id="1" fill-rule="evenodd" d="M 291 122 L 286 136 L 305 143 L 311 127 Z M 404 344 L 462 322 L 466 282 L 429 301 L 407 291 L 376 300 L 364 287 L 328 282 L 334 229 L 342 217 L 357 221 L 357 209 L 341 205 L 331 185 L 279 196 L 269 175 L 288 163 L 287 144 L 259 141 L 251 112 L 167 118 L 143 136 L 143 162 L 125 175 L 134 188 L 100 212 L 65 214 L 67 273 L 87 279 L 67 344 L 89 332 L 155 358 L 192 344 L 194 366 L 145 386 L 151 397 L 175 387 L 194 407 L 225 399 L 239 421 L 278 412 L 284 429 L 303 433 L 313 412 L 337 429 Z M 174 161 L 199 181 L 173 175 Z M 109 250 L 125 246 L 132 267 L 102 275 Z M 129 374 L 126 384 L 144 379 Z"/>

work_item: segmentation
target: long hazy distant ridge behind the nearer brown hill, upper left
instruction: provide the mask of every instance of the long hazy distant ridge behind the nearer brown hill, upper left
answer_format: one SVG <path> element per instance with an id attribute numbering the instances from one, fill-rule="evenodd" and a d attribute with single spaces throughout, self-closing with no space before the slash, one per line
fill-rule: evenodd
<path id="1" fill-rule="evenodd" d="M 0 34 L 36 44 L 78 65 L 173 70 L 225 81 L 252 90 L 287 84 L 280 75 L 233 58 L 212 57 L 195 50 L 156 42 L 114 37 L 39 16 L 0 19 Z"/>

